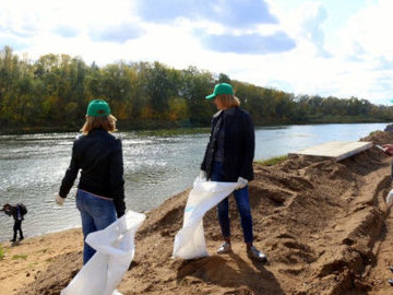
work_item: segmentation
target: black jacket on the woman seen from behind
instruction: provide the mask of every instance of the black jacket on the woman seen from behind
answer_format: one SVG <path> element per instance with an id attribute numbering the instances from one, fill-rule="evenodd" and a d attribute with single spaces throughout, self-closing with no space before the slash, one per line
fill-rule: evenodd
<path id="1" fill-rule="evenodd" d="M 124 214 L 124 180 L 121 140 L 104 129 L 93 129 L 73 143 L 72 157 L 59 194 L 70 192 L 79 169 L 78 188 L 114 200 L 118 217 Z"/>

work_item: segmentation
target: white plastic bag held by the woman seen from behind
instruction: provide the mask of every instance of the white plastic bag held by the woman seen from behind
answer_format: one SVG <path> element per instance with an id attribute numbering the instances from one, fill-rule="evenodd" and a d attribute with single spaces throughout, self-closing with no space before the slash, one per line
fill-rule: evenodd
<path id="1" fill-rule="evenodd" d="M 120 295 L 115 288 L 131 264 L 135 233 L 145 217 L 128 211 L 105 229 L 87 235 L 86 243 L 96 252 L 60 294 Z"/>

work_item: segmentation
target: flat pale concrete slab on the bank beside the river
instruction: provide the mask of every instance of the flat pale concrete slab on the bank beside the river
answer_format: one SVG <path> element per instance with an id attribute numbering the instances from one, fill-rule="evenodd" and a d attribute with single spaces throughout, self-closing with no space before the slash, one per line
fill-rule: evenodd
<path id="1" fill-rule="evenodd" d="M 353 156 L 357 153 L 366 151 L 372 146 L 372 142 L 367 141 L 329 141 L 320 145 L 307 148 L 291 155 L 309 155 L 309 156 L 322 156 L 330 157 L 338 162 L 343 158 Z"/>

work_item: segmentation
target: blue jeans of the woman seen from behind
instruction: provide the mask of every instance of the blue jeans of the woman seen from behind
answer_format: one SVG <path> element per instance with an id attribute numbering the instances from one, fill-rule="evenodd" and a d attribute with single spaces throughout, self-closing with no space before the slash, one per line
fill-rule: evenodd
<path id="1" fill-rule="evenodd" d="M 90 233 L 104 229 L 116 221 L 114 201 L 96 197 L 87 191 L 78 190 L 76 208 L 81 212 L 83 240 L 86 239 Z M 84 241 L 83 264 L 86 264 L 95 252 L 96 251 Z"/>

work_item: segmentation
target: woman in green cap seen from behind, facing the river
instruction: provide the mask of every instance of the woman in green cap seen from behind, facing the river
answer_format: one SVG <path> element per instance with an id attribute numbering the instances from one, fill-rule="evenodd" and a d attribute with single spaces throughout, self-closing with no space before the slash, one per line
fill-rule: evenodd
<path id="1" fill-rule="evenodd" d="M 104 229 L 126 211 L 122 145 L 120 139 L 110 134 L 117 130 L 116 121 L 105 101 L 94 99 L 88 104 L 82 134 L 73 142 L 70 166 L 59 193 L 55 194 L 56 202 L 63 204 L 81 169 L 76 208 L 81 212 L 84 240 L 90 233 Z M 84 241 L 83 264 L 94 253 Z"/>

